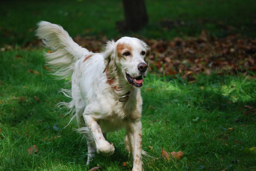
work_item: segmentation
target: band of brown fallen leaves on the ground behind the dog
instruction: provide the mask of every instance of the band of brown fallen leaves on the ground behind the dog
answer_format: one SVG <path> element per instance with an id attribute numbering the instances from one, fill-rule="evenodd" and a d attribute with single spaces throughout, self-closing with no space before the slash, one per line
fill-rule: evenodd
<path id="1" fill-rule="evenodd" d="M 210 75 L 213 72 L 222 74 L 237 74 L 240 72 L 256 78 L 250 71 L 256 71 L 256 39 L 246 38 L 240 34 L 229 34 L 226 37 L 214 37 L 208 31 L 202 30 L 198 37 L 180 38 L 171 40 L 146 39 L 151 48 L 149 55 L 149 70 L 160 75 L 178 74 L 183 79 L 194 82 L 196 75 L 204 73 Z M 74 41 L 80 46 L 92 52 L 102 52 L 106 36 L 96 39 L 93 36 L 82 37 L 77 35 Z M 41 41 L 35 39 L 27 42 L 24 49 L 41 46 Z M 14 49 L 11 45 L 4 45 L 1 51 Z M 52 53 L 48 50 L 47 53 Z M 48 70 L 48 68 L 45 68 Z M 38 74 L 36 71 L 29 70 Z"/>

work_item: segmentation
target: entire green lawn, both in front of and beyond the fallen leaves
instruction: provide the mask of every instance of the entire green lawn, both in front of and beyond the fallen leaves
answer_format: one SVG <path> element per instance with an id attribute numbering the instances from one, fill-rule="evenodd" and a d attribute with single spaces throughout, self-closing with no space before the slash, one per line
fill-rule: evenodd
<path id="1" fill-rule="evenodd" d="M 47 49 L 38 46 L 34 37 L 36 22 L 47 20 L 62 25 L 72 37 L 80 34 L 102 41 L 106 35 L 116 39 L 123 36 L 115 29 L 115 22 L 124 19 L 121 2 L 2 4 L 0 171 L 87 171 L 95 166 L 104 171 L 131 170 L 131 158 L 124 150 L 124 130 L 108 133 L 108 141 L 115 145 L 113 155 L 98 154 L 85 166 L 86 140 L 74 130 L 75 121 L 65 127 L 71 115 L 63 117 L 67 110 L 56 107 L 70 100 L 59 90 L 71 85 L 66 85 L 68 79 L 55 80 L 50 75 L 44 66 L 43 51 Z M 255 37 L 254 1 L 148 0 L 146 4 L 148 26 L 128 36 L 168 41 L 176 36 L 196 37 L 206 29 L 216 37 L 230 33 Z M 248 52 L 255 59 L 254 51 Z M 158 73 L 156 68 L 154 73 Z M 142 147 L 153 158 L 143 159 L 145 171 L 256 171 L 256 73 L 230 73 L 194 74 L 192 81 L 179 74 L 148 74 L 141 88 Z M 29 153 L 33 145 L 37 151 Z M 162 149 L 184 155 L 167 160 Z"/>

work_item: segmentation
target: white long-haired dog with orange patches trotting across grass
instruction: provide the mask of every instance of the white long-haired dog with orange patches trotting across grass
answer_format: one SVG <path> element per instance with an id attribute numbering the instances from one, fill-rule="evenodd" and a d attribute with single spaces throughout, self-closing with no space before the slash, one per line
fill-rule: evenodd
<path id="1" fill-rule="evenodd" d="M 60 25 L 38 23 L 36 36 L 53 53 L 45 53 L 46 64 L 59 79 L 71 76 L 71 97 L 62 102 L 75 111 L 78 129 L 87 139 L 87 165 L 95 153 L 105 156 L 115 151 L 105 133 L 125 128 L 125 147 L 132 154 L 132 171 L 142 171 L 142 98 L 140 87 L 147 75 L 149 46 L 131 37 L 107 41 L 102 53 L 89 52 L 76 44 Z M 71 120 L 72 120 L 71 119 Z M 70 121 L 71 121 L 70 120 Z M 69 122 L 70 123 L 70 122 Z"/>

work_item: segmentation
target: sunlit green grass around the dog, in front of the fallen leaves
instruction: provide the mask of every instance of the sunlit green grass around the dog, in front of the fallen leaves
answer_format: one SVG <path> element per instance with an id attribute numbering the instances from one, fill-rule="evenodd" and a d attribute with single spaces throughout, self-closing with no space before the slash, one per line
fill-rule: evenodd
<path id="1" fill-rule="evenodd" d="M 0 67 L 1 171 L 75 171 L 97 165 L 107 171 L 131 170 L 124 130 L 108 134 L 116 148 L 112 156 L 97 155 L 85 166 L 85 139 L 73 130 L 75 122 L 62 129 L 70 116 L 62 118 L 67 110 L 55 107 L 69 100 L 58 94 L 65 81 L 49 75 L 41 50 L 0 52 Z M 189 83 L 176 77 L 149 74 L 145 79 L 142 145 L 158 158 L 145 159 L 145 170 L 256 170 L 256 153 L 248 150 L 256 146 L 255 111 L 245 108 L 255 109 L 255 79 L 212 74 L 198 75 L 195 83 Z M 231 127 L 234 130 L 227 130 Z M 33 144 L 38 152 L 29 155 L 27 149 Z M 162 148 L 185 155 L 168 162 L 160 157 Z M 125 161 L 128 168 L 120 166 Z"/>

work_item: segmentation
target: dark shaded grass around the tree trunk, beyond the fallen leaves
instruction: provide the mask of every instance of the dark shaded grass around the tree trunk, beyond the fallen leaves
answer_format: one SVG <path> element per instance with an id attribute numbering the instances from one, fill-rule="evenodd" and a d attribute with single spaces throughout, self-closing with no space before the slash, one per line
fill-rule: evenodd
<path id="1" fill-rule="evenodd" d="M 215 36 L 242 33 L 255 37 L 254 0 L 146 0 L 149 23 L 138 33 L 121 34 L 116 21 L 124 20 L 122 2 L 110 1 L 6 1 L 0 5 L 0 46 L 24 45 L 35 39 L 36 23 L 45 20 L 62 25 L 72 37 L 121 36 L 172 39 L 198 36 L 202 29 Z M 172 19 L 178 25 L 161 23 Z M 179 22 L 182 21 L 182 22 Z M 231 26 L 231 27 L 230 27 Z"/>

